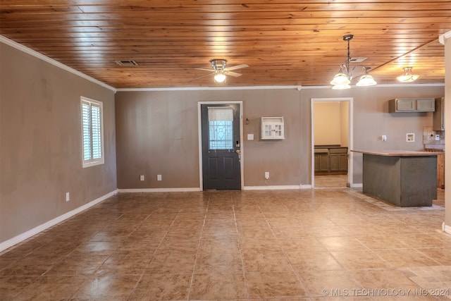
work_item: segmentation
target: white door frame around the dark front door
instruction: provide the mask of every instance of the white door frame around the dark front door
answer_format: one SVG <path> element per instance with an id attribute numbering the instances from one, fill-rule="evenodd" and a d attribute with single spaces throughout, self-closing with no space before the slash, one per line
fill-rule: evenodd
<path id="1" fill-rule="evenodd" d="M 240 173 L 241 173 L 241 190 L 244 188 L 245 178 L 243 171 L 243 162 L 245 159 L 245 147 L 243 145 L 243 128 L 242 128 L 242 101 L 220 101 L 220 102 L 197 102 L 197 130 L 199 136 L 199 188 L 200 191 L 204 190 L 204 173 L 202 166 L 202 112 L 201 106 L 202 104 L 238 104 L 240 106 L 240 151 L 241 151 L 241 159 L 240 159 Z"/>

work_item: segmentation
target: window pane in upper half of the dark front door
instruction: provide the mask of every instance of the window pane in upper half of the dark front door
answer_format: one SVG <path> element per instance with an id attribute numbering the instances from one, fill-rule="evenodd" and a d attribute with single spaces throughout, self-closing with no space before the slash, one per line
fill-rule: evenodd
<path id="1" fill-rule="evenodd" d="M 233 109 L 209 108 L 209 149 L 233 149 Z"/>

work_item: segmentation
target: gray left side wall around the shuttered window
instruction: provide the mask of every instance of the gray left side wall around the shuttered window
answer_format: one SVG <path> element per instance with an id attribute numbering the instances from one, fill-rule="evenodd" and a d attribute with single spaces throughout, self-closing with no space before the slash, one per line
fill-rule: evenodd
<path id="1" fill-rule="evenodd" d="M 113 91 L 6 44 L 0 52 L 4 242 L 116 190 L 116 135 Z M 82 168 L 80 96 L 104 103 L 101 166 Z"/>

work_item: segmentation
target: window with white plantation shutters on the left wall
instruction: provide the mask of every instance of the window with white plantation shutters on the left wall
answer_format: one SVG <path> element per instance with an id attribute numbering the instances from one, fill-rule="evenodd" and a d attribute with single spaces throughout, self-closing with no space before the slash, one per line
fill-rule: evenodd
<path id="1" fill-rule="evenodd" d="M 104 164 L 102 103 L 81 97 L 83 167 Z"/>

